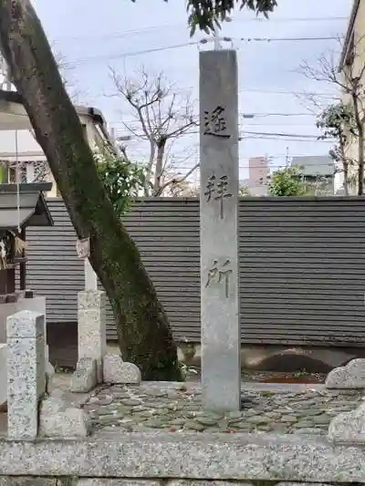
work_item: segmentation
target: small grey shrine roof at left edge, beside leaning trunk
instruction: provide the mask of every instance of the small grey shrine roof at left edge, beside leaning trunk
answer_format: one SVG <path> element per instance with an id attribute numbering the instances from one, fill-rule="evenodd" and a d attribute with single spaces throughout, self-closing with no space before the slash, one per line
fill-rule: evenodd
<path id="1" fill-rule="evenodd" d="M 26 226 L 53 226 L 43 191 L 52 183 L 20 184 L 19 211 L 16 184 L 0 184 L 0 229 L 16 230 Z"/>

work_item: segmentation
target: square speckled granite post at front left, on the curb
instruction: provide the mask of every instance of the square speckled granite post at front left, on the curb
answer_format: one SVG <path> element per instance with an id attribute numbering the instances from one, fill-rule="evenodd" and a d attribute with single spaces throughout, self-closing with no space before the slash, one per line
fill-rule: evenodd
<path id="1" fill-rule="evenodd" d="M 46 391 L 45 316 L 20 311 L 6 320 L 7 435 L 36 439 L 38 402 Z"/>

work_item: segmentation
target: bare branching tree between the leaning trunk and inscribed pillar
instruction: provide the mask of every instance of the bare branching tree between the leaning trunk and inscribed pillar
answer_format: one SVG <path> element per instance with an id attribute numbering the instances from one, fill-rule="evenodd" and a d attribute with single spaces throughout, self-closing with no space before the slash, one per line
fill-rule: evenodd
<path id="1" fill-rule="evenodd" d="M 185 182 L 193 174 L 199 164 L 184 175 L 169 177 L 172 165 L 172 145 L 183 135 L 192 133 L 197 126 L 197 119 L 193 114 L 193 103 L 189 97 L 183 98 L 177 94 L 172 85 L 160 73 L 151 76 L 143 67 L 137 79 L 121 77 L 111 69 L 111 76 L 117 96 L 124 98 L 132 109 L 136 125 L 123 123 L 133 138 L 145 140 L 149 143 L 149 159 L 146 166 L 145 196 L 161 196 L 169 188 Z M 126 147 L 121 147 L 128 159 Z"/>

